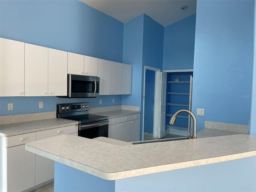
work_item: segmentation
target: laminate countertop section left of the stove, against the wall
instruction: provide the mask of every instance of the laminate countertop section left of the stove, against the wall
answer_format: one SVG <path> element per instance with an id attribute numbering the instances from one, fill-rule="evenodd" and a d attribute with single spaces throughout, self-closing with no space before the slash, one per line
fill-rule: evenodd
<path id="1" fill-rule="evenodd" d="M 61 118 L 3 124 L 0 125 L 0 136 L 7 137 L 77 124 L 77 121 Z"/>

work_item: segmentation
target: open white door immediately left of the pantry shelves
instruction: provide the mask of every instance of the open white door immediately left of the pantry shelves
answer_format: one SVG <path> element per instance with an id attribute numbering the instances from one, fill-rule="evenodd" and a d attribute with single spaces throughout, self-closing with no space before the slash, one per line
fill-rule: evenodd
<path id="1" fill-rule="evenodd" d="M 160 126 L 158 130 L 158 138 L 165 136 L 165 117 L 166 117 L 166 82 L 167 82 L 167 73 L 160 73 L 160 98 L 161 98 L 161 112 L 160 112 Z"/>

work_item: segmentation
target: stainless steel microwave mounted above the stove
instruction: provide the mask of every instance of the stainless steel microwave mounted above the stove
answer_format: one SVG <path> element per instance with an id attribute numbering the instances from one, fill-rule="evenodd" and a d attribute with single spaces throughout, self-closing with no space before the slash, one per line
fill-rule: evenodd
<path id="1" fill-rule="evenodd" d="M 100 78 L 68 74 L 68 98 L 98 97 Z"/>

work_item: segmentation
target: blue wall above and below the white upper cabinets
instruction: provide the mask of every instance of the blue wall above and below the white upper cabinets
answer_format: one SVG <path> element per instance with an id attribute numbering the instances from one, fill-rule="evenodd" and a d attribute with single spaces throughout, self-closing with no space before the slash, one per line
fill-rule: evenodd
<path id="1" fill-rule="evenodd" d="M 122 62 L 123 35 L 122 22 L 77 0 L 0 1 L 2 38 Z M 121 105 L 121 99 L 122 96 L 1 97 L 0 115 L 54 111 L 56 103 L 62 102 L 90 102 L 91 107 Z M 44 108 L 39 109 L 39 101 L 44 102 Z M 13 103 L 12 111 L 7 110 L 8 102 Z"/>

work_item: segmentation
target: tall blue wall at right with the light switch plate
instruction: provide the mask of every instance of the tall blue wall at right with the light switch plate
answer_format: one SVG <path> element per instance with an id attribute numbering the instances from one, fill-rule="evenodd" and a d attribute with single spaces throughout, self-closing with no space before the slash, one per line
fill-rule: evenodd
<path id="1" fill-rule="evenodd" d="M 210 9 L 209 9 L 210 8 Z M 192 112 L 204 121 L 248 125 L 254 1 L 198 1 Z"/>

